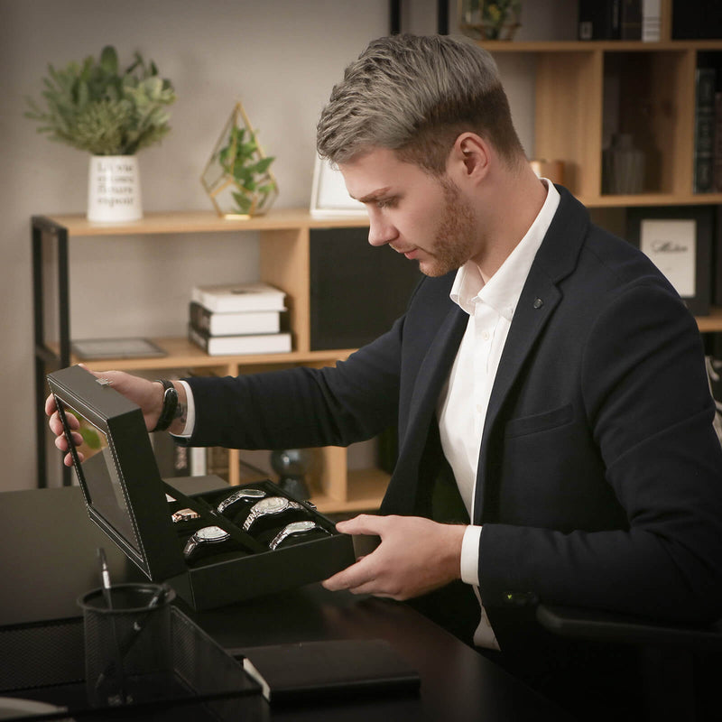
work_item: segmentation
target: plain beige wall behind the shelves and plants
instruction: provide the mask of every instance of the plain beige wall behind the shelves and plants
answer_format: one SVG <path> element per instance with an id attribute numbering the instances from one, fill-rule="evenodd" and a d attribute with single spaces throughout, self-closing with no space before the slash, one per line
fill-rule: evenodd
<path id="1" fill-rule="evenodd" d="M 435 31 L 434 0 L 403 5 L 404 30 Z M 528 17 L 527 35 L 550 23 L 532 7 Z M 277 157 L 277 205 L 307 207 L 319 109 L 387 23 L 386 0 L 0 0 L 0 490 L 35 486 L 30 217 L 86 207 L 88 155 L 23 117 L 46 64 L 114 44 L 121 61 L 142 51 L 173 80 L 171 134 L 139 154 L 146 210 L 210 208 L 199 173 L 238 99 Z M 500 66 L 532 153 L 532 67 L 514 57 Z M 74 337 L 180 335 L 193 283 L 257 277 L 257 238 L 222 236 L 74 241 Z"/>

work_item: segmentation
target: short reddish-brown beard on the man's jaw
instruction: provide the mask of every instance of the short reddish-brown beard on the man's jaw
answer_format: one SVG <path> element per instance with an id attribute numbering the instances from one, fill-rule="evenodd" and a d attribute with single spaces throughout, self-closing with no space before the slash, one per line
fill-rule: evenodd
<path id="1" fill-rule="evenodd" d="M 467 200 L 446 178 L 439 180 L 444 191 L 444 209 L 436 228 L 430 260 L 421 261 L 419 270 L 427 276 L 443 276 L 456 271 L 474 255 L 477 228 Z"/>

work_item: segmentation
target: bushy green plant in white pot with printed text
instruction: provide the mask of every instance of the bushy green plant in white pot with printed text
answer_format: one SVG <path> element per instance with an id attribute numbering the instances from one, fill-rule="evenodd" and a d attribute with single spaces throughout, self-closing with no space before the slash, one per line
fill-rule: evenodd
<path id="1" fill-rule="evenodd" d="M 135 153 L 159 143 L 170 130 L 165 106 L 175 101 L 169 79 L 136 52 L 125 70 L 116 49 L 106 45 L 100 60 L 88 56 L 65 69 L 48 66 L 42 107 L 31 98 L 25 115 L 53 141 L 92 154 L 88 173 L 88 220 L 143 218 Z"/>

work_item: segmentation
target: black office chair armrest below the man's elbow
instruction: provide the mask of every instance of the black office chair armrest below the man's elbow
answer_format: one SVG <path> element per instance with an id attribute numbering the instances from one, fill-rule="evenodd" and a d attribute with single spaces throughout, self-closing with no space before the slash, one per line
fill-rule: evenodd
<path id="1" fill-rule="evenodd" d="M 536 618 L 552 634 L 634 644 L 649 720 L 722 719 L 722 619 L 709 626 L 670 625 L 642 617 L 541 604 Z"/>

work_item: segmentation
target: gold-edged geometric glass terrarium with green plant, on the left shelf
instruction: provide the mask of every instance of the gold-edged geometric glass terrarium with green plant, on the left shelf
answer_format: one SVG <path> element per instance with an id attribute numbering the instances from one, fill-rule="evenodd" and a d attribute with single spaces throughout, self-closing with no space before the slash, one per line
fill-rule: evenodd
<path id="1" fill-rule="evenodd" d="M 236 103 L 200 177 L 218 215 L 250 218 L 271 208 L 278 197 L 274 160 L 264 155 L 244 107 Z"/>

